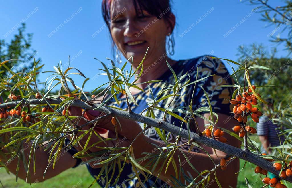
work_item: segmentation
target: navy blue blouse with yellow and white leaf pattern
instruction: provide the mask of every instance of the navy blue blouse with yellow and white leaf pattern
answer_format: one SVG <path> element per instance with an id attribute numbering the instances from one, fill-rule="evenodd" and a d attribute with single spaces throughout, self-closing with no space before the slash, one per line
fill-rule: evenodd
<path id="1" fill-rule="evenodd" d="M 199 74 L 198 79 L 212 75 L 212 74 L 215 74 L 215 76 L 210 76 L 207 79 L 204 79 L 197 83 L 195 93 L 194 93 L 192 108 L 196 109 L 199 107 L 208 107 L 206 96 L 204 94 L 204 91 L 201 89 L 201 86 L 203 86 L 210 98 L 210 102 L 213 107 L 213 112 L 230 115 L 230 112 L 232 112 L 232 105 L 230 105 L 228 100 L 223 100 L 223 99 L 230 99 L 233 89 L 230 87 L 227 88 L 227 87 L 218 87 L 218 86 L 232 85 L 234 84 L 234 81 L 232 78 L 229 77 L 226 67 L 223 65 L 223 63 L 220 60 L 209 59 L 208 56 L 205 55 L 205 56 L 200 56 L 200 57 L 188 59 L 188 60 L 179 60 L 172 66 L 172 69 L 175 71 L 178 77 L 183 76 L 185 73 L 188 72 L 191 77 L 190 82 L 193 82 L 196 80 L 197 67 L 198 67 L 198 74 Z M 153 67 L 153 68 L 157 68 L 157 67 Z M 150 72 L 146 74 L 150 74 Z M 180 86 L 186 83 L 188 79 L 189 79 L 188 76 L 182 79 L 180 81 Z M 161 90 L 161 88 L 168 85 L 174 85 L 175 83 L 173 74 L 170 71 L 170 69 L 168 69 L 157 80 L 162 80 L 162 81 L 149 84 L 149 86 L 152 89 L 154 98 L 159 94 L 159 91 Z M 194 84 L 184 87 L 182 90 L 180 90 L 180 96 L 175 98 L 175 100 L 171 103 L 169 108 L 175 108 L 178 106 L 187 107 L 191 101 L 193 87 L 194 87 Z M 169 95 L 171 93 L 173 93 L 173 90 L 168 90 L 168 92 L 164 93 L 163 95 L 160 95 L 159 98 L 162 98 L 163 96 Z M 122 94 L 119 94 L 119 97 L 120 95 Z M 136 106 L 130 102 L 131 109 L 133 112 L 138 113 L 138 114 L 142 112 L 143 109 L 148 107 L 147 103 L 152 102 L 152 97 L 151 97 L 150 90 L 148 89 L 148 87 L 144 89 L 144 92 L 140 92 L 133 96 L 139 106 Z M 166 100 L 161 100 L 158 106 L 167 107 L 170 100 L 171 98 L 167 98 Z M 116 106 L 122 109 L 127 109 L 126 99 L 123 99 L 123 98 L 120 98 L 120 106 L 117 105 L 117 103 L 114 100 L 110 101 L 109 105 Z M 145 113 L 146 111 L 143 112 L 142 115 L 145 115 Z M 155 109 L 154 114 L 155 114 L 156 119 L 162 119 L 164 112 L 158 109 Z M 178 114 L 181 117 L 185 116 L 185 114 L 181 114 L 181 113 L 176 113 L 176 114 Z M 168 114 L 166 116 L 166 121 L 168 123 L 181 126 L 181 121 L 179 119 L 176 119 L 173 116 L 168 115 Z M 139 123 L 139 124 L 142 128 L 144 127 L 143 123 Z M 183 128 L 187 129 L 186 125 L 184 125 Z M 145 131 L 145 135 L 147 137 L 151 137 L 156 140 L 161 140 L 153 127 Z M 168 137 L 168 141 L 173 142 L 174 139 L 175 139 L 175 135 L 170 134 L 170 136 Z M 179 141 L 179 144 L 183 144 L 185 142 L 187 142 L 187 140 L 184 138 L 181 138 Z M 190 146 L 186 145 L 182 149 L 189 149 L 189 147 Z M 197 148 L 194 148 L 192 151 L 199 152 Z M 98 175 L 100 172 L 100 168 L 91 168 L 89 165 L 87 165 L 87 168 L 92 176 Z M 108 174 L 111 175 L 112 171 L 108 172 Z M 113 181 L 116 179 L 118 174 L 119 174 L 119 171 L 116 168 Z M 148 181 L 146 181 L 145 177 L 140 174 L 140 179 L 142 182 L 144 182 L 145 187 L 167 187 L 166 182 L 163 182 L 157 179 L 157 177 L 155 176 L 152 176 L 152 177 L 150 176 L 150 178 L 148 178 Z M 98 183 L 102 187 L 106 185 L 105 175 L 102 175 L 100 177 L 100 180 L 98 181 Z M 135 172 L 133 171 L 131 163 L 125 164 L 124 170 L 121 173 L 118 183 L 116 185 L 111 185 L 111 186 L 112 187 L 128 187 L 128 188 L 140 187 L 138 178 L 136 177 Z"/>

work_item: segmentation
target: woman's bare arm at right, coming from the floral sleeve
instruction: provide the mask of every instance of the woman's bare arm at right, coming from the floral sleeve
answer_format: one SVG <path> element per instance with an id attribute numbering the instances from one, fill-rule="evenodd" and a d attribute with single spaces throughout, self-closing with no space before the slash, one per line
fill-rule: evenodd
<path id="1" fill-rule="evenodd" d="M 204 114 L 204 116 L 206 118 L 208 118 L 210 114 Z M 235 119 L 231 119 L 226 125 L 224 125 L 223 121 L 225 119 L 228 119 L 228 116 L 225 114 L 220 114 L 218 113 L 219 121 L 217 123 L 218 126 L 220 127 L 225 127 L 227 129 L 232 128 L 233 126 L 236 125 L 237 121 Z M 200 125 L 200 129 L 204 130 L 203 125 L 205 123 L 208 122 L 204 122 L 203 119 L 201 118 L 197 118 L 198 124 Z M 240 142 L 239 140 L 237 140 L 236 138 L 227 135 L 225 133 L 224 135 L 225 137 L 227 137 L 228 139 L 228 143 L 234 147 L 239 147 Z M 133 145 L 133 150 L 135 152 L 135 157 L 136 159 L 139 157 L 143 157 L 143 155 L 141 155 L 142 152 L 150 152 L 153 153 L 153 151 L 157 151 L 157 149 L 155 149 L 155 147 L 151 144 L 148 144 L 147 142 L 150 142 L 152 144 L 156 144 L 156 145 L 162 145 L 161 142 L 155 141 L 151 138 L 148 137 L 144 137 L 145 141 L 143 143 L 138 143 L 136 142 L 136 144 Z M 143 147 L 141 148 L 141 145 L 143 145 Z M 162 146 L 161 146 L 162 147 Z M 142 150 L 141 150 L 142 149 Z M 219 150 L 216 150 L 216 154 L 215 152 L 213 152 L 213 149 L 210 147 L 204 147 L 204 149 L 206 151 L 208 151 L 208 153 L 210 154 L 211 158 L 213 159 L 213 161 L 218 164 L 220 162 L 220 159 L 222 159 L 223 157 L 225 157 L 225 153 L 221 152 Z M 209 156 L 207 154 L 205 154 L 203 151 L 201 151 L 200 153 L 197 152 L 190 152 L 188 153 L 187 151 L 183 150 L 183 152 L 185 153 L 185 155 L 188 157 L 189 161 L 192 163 L 192 165 L 199 171 L 202 172 L 204 170 L 212 170 L 214 168 L 214 164 L 211 161 L 211 159 L 209 158 Z M 178 156 L 180 157 L 180 161 L 183 164 L 182 168 L 184 170 L 184 172 L 186 173 L 187 171 L 189 171 L 192 174 L 192 177 L 196 177 L 198 175 L 198 173 L 196 173 L 191 167 L 190 165 L 187 163 L 187 161 L 185 160 L 185 157 L 183 156 L 183 154 L 180 151 L 176 151 L 174 154 L 174 159 L 176 162 L 176 167 L 179 169 L 180 164 L 179 164 L 179 160 L 178 160 Z M 144 157 L 146 158 L 146 157 Z M 146 159 L 145 161 L 143 161 L 142 166 L 145 165 L 148 162 L 148 160 Z M 164 160 L 160 160 L 159 164 L 157 166 L 162 166 L 164 163 Z M 172 179 L 171 175 L 175 177 L 175 170 L 172 166 L 172 164 L 170 163 L 170 165 L 168 166 L 167 172 L 165 173 L 165 168 L 166 168 L 166 164 L 164 164 L 163 170 L 161 171 L 159 178 L 161 180 L 163 180 L 164 182 L 168 182 L 168 184 L 172 185 L 170 182 L 170 179 Z M 158 171 L 159 168 L 157 168 L 154 172 L 154 174 L 157 176 L 158 175 Z M 224 170 L 224 172 L 219 168 L 217 169 L 217 177 L 218 180 L 221 184 L 222 187 L 228 187 L 229 185 L 232 187 L 236 187 L 237 185 L 237 175 L 235 175 L 236 172 L 238 172 L 239 170 L 239 160 L 235 159 L 234 161 L 232 161 L 231 165 L 227 166 L 227 169 Z M 211 179 L 214 179 L 213 174 L 211 175 Z M 181 175 L 181 182 L 185 182 L 185 180 L 183 179 L 182 175 Z M 216 182 L 214 182 L 214 184 L 210 185 L 211 187 L 218 187 L 218 185 L 216 184 Z"/>

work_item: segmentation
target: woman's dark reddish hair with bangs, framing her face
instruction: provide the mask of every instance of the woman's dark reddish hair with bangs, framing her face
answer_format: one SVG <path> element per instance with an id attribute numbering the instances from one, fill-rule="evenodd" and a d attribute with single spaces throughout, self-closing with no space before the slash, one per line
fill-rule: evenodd
<path id="1" fill-rule="evenodd" d="M 105 23 L 109 29 L 110 32 L 110 22 L 111 22 L 111 15 L 110 15 L 110 6 L 111 3 L 115 0 L 102 0 L 102 16 L 105 20 Z M 147 11 L 150 15 L 153 15 L 157 18 L 164 18 L 166 22 L 168 22 L 172 26 L 171 21 L 171 0 L 133 0 L 133 4 L 135 7 L 136 14 L 142 13 L 143 11 Z M 171 28 L 171 32 L 173 31 L 173 28 Z M 112 38 L 112 36 L 111 36 Z M 174 46 L 174 38 L 173 35 L 171 35 L 171 40 L 168 40 L 168 46 Z M 115 44 L 112 40 L 112 53 L 113 57 L 115 58 Z M 168 47 L 169 49 L 170 47 Z"/>

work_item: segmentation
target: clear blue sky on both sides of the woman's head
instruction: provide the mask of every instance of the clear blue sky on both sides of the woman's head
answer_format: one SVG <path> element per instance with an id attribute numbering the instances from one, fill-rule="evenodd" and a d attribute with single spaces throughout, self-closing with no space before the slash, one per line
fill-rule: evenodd
<path id="1" fill-rule="evenodd" d="M 272 1 L 269 3 L 272 6 L 280 5 L 279 1 L 278 4 L 273 4 Z M 68 55 L 71 55 L 74 58 L 71 66 L 91 78 L 85 89 L 92 90 L 107 81 L 107 76 L 96 76 L 100 73 L 98 69 L 102 67 L 93 58 L 106 63 L 106 57 L 112 58 L 109 32 L 107 28 L 102 29 L 104 21 L 100 5 L 101 0 L 2 1 L 0 39 L 11 40 L 17 33 L 17 29 L 13 27 L 17 27 L 24 20 L 26 31 L 34 33 L 32 47 L 38 50 L 36 57 L 40 57 L 45 64 L 43 71 L 53 70 L 53 66 L 60 60 L 66 63 Z M 213 51 L 213 55 L 217 57 L 237 60 L 239 45 L 257 42 L 269 47 L 275 46 L 267 36 L 275 26 L 266 27 L 266 23 L 260 21 L 260 13 L 257 13 L 259 11 L 253 13 L 253 8 L 255 6 L 239 0 L 173 0 L 177 25 L 175 55 L 172 58 L 194 58 Z M 72 14 L 74 16 L 69 18 Z M 189 32 L 182 35 L 188 27 L 191 28 Z M 235 28 L 234 31 L 227 36 L 226 32 L 231 31 L 232 27 Z M 51 35 L 54 29 L 58 31 Z M 97 30 L 101 31 L 92 37 Z M 286 56 L 286 52 L 281 51 L 283 46 L 278 46 L 278 49 L 278 57 Z M 227 67 L 230 70 L 229 65 Z M 40 76 L 40 80 L 45 81 L 47 76 L 48 74 Z M 97 79 L 92 79 L 94 77 Z M 76 79 L 77 85 L 81 86 L 84 79 Z"/>

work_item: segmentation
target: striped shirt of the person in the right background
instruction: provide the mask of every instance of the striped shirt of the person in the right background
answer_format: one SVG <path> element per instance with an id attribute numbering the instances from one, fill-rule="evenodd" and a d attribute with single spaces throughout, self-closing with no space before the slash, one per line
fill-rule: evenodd
<path id="1" fill-rule="evenodd" d="M 268 137 L 268 141 L 271 147 L 280 145 L 280 140 L 278 137 L 278 134 L 280 134 L 280 130 L 277 129 L 279 128 L 279 126 L 277 124 L 274 124 L 272 120 L 269 119 L 267 116 L 260 117 L 260 122 L 257 123 L 256 128 L 259 136 L 262 135 Z M 283 143 L 283 141 L 285 140 L 284 135 L 281 135 L 280 138 L 281 143 Z M 261 152 L 267 153 L 263 146 L 261 147 Z"/>

